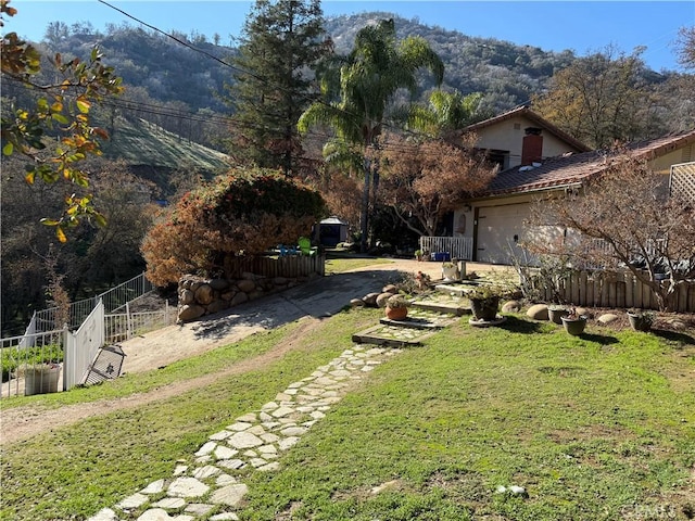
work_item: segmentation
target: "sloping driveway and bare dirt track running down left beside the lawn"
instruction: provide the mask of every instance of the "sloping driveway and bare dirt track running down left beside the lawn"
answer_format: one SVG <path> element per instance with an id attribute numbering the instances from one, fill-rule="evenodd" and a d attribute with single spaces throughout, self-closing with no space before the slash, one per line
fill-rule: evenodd
<path id="1" fill-rule="evenodd" d="M 505 268 L 475 265 L 477 271 Z M 220 345 L 238 342 L 257 331 L 269 330 L 295 320 L 302 320 L 294 341 L 254 358 L 242 360 L 224 371 L 203 374 L 190 380 L 172 383 L 150 393 L 136 394 L 117 399 L 47 409 L 39 406 L 15 407 L 2 412 L 0 445 L 30 437 L 46 429 L 65 427 L 76 421 L 136 408 L 154 401 L 166 399 L 187 391 L 210 385 L 220 378 L 242 373 L 267 365 L 282 357 L 296 346 L 302 335 L 315 328 L 321 318 L 340 312 L 351 298 L 380 291 L 395 280 L 400 272 L 422 271 L 432 280 L 441 279 L 439 263 L 394 259 L 354 271 L 330 275 L 280 294 L 247 303 L 227 312 L 204 317 L 181 326 L 169 326 L 140 338 L 122 343 L 126 354 L 124 372 L 142 372 L 194 356 Z"/>

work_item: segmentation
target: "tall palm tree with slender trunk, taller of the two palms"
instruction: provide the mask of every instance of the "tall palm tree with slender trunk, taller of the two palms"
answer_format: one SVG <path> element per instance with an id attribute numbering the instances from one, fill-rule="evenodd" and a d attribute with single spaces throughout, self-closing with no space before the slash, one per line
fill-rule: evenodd
<path id="1" fill-rule="evenodd" d="M 367 247 L 369 230 L 371 162 L 367 152 L 376 145 L 396 92 L 407 89 L 412 96 L 416 93 L 420 68 L 429 69 L 441 85 L 444 64 L 424 38 L 409 36 L 397 42 L 393 20 L 364 27 L 351 53 L 338 56 L 325 68 L 321 91 L 326 101 L 313 103 L 298 124 L 301 132 L 313 125 L 328 125 L 336 132 L 334 140 L 362 147 L 362 251 Z"/>

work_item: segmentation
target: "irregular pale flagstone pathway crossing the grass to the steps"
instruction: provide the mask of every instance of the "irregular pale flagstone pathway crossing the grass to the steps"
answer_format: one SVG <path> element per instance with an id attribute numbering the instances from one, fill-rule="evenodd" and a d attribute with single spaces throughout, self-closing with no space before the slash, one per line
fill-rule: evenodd
<path id="1" fill-rule="evenodd" d="M 179 461 L 170 479 L 150 483 L 88 521 L 238 520 L 238 505 L 248 492 L 242 476 L 250 469 L 278 470 L 278 456 L 324 418 L 351 383 L 396 353 L 400 350 L 355 344 L 291 383 L 261 410 L 211 435 L 190 460 Z"/>

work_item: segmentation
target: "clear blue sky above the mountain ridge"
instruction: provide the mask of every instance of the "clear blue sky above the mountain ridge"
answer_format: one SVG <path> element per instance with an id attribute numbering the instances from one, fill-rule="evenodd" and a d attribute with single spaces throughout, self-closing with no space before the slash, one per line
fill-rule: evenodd
<path id="1" fill-rule="evenodd" d="M 223 43 L 238 35 L 253 2 L 242 0 L 106 0 L 114 7 L 163 30 L 207 37 L 217 33 Z M 4 30 L 40 40 L 49 22 L 68 25 L 89 21 L 135 25 L 97 0 L 12 0 L 18 14 Z M 573 50 L 578 55 L 612 45 L 631 53 L 645 46 L 643 59 L 655 71 L 680 71 L 673 43 L 683 26 L 695 26 L 695 1 L 352 1 L 324 0 L 326 15 L 386 11 L 426 25 L 459 30 L 468 36 L 496 38 L 545 51 Z"/>

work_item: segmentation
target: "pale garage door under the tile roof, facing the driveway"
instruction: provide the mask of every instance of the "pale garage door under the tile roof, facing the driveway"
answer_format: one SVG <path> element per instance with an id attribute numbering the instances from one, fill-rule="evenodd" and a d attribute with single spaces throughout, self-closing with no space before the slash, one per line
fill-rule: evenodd
<path id="1" fill-rule="evenodd" d="M 517 256 L 521 254 L 518 243 L 525 239 L 523 221 L 528 217 L 527 203 L 481 207 L 478 212 L 478 262 L 510 265 L 511 252 Z"/>

